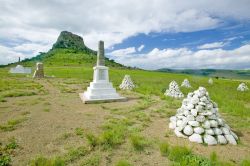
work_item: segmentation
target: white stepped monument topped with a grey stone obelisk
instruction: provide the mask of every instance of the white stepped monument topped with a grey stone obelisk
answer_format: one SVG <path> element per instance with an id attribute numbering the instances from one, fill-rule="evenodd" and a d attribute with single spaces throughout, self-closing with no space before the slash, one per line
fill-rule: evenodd
<path id="1" fill-rule="evenodd" d="M 84 103 L 125 101 L 116 89 L 109 82 L 108 67 L 105 66 L 104 42 L 100 41 L 98 45 L 97 64 L 94 69 L 93 82 L 87 88 L 87 91 L 80 93 L 80 98 Z"/>

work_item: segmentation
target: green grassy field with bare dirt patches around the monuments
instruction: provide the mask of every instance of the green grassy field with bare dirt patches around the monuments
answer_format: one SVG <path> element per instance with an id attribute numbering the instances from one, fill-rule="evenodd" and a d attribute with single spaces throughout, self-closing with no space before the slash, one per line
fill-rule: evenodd
<path id="1" fill-rule="evenodd" d="M 91 65 L 49 63 L 45 74 L 54 77 L 40 80 L 0 69 L 0 165 L 250 164 L 250 91 L 236 91 L 241 80 L 214 79 L 209 85 L 207 77 L 111 67 L 116 88 L 125 74 L 137 88 L 119 91 L 127 102 L 85 105 L 78 93 L 92 80 Z M 172 80 L 181 84 L 184 78 L 192 85 L 181 88 L 185 95 L 207 88 L 239 145 L 194 144 L 168 129 L 181 100 L 163 93 Z"/>

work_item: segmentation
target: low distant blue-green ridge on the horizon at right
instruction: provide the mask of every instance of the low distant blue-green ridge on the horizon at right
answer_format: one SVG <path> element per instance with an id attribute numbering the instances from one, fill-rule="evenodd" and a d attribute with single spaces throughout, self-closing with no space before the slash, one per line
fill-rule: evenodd
<path id="1" fill-rule="evenodd" d="M 191 74 L 207 77 L 228 79 L 250 79 L 250 70 L 219 70 L 219 69 L 158 69 L 160 72 Z"/>

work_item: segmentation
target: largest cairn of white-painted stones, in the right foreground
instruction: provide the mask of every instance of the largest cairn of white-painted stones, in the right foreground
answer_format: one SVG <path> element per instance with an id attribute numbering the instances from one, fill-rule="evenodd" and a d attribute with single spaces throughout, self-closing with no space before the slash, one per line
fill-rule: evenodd
<path id="1" fill-rule="evenodd" d="M 216 144 L 237 144 L 238 137 L 221 118 L 218 106 L 210 100 L 205 88 L 188 93 L 177 114 L 170 117 L 169 128 L 177 137 L 191 142 Z"/>

